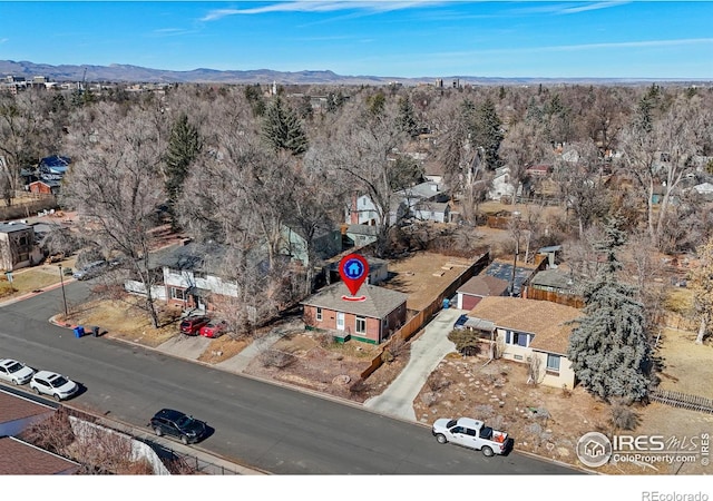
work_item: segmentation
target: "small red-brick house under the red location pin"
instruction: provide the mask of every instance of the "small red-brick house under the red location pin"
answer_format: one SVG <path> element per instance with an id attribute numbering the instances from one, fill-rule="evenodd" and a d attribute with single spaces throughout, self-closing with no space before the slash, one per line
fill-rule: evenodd
<path id="1" fill-rule="evenodd" d="M 304 323 L 330 331 L 341 341 L 371 344 L 380 344 L 406 323 L 407 294 L 364 284 L 356 296 L 364 301 L 343 298 L 351 297 L 343 282 L 324 287 L 301 303 Z"/>

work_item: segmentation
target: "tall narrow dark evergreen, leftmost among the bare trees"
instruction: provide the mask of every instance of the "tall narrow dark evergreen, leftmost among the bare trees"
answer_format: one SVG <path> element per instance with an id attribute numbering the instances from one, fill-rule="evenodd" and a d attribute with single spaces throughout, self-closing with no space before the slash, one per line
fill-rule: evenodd
<path id="1" fill-rule="evenodd" d="M 164 176 L 172 226 L 176 226 L 174 207 L 188 177 L 188 169 L 202 149 L 198 129 L 182 114 L 170 129 L 168 147 L 164 157 Z"/>

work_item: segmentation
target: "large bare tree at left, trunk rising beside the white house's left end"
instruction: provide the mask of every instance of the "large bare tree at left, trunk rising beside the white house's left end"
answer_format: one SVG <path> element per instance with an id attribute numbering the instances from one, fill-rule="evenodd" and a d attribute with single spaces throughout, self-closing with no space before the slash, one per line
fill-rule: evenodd
<path id="1" fill-rule="evenodd" d="M 70 144 L 75 161 L 62 200 L 81 215 L 88 238 L 107 254 L 127 257 L 144 286 L 144 306 L 157 327 L 153 286 L 158 277 L 149 253 L 156 209 L 165 194 L 156 130 L 138 108 L 124 114 L 117 106 L 99 104 L 94 114 L 94 120 L 78 128 Z"/>

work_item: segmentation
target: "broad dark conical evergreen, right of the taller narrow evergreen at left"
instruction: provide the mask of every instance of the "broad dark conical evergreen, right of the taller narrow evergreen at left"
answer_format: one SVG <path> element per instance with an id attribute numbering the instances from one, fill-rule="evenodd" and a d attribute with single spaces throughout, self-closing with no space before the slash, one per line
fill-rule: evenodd
<path id="1" fill-rule="evenodd" d="M 282 149 L 301 155 L 307 150 L 307 136 L 300 117 L 280 96 L 265 110 L 262 132 L 275 151 Z"/>

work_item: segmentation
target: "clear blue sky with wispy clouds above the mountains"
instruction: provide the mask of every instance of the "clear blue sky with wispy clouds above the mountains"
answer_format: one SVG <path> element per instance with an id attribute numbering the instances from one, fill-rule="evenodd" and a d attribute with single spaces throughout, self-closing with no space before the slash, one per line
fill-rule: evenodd
<path id="1" fill-rule="evenodd" d="M 0 59 L 713 80 L 710 1 L 0 1 Z"/>

